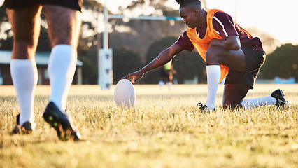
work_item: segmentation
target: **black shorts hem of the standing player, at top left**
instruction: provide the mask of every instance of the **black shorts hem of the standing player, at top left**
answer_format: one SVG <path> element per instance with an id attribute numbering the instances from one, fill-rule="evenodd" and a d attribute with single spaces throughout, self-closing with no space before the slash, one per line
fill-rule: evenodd
<path id="1" fill-rule="evenodd" d="M 24 8 L 34 4 L 49 4 L 64 6 L 66 8 L 72 8 L 81 12 L 83 6 L 83 0 L 5 0 L 6 8 L 15 9 L 15 8 Z"/>

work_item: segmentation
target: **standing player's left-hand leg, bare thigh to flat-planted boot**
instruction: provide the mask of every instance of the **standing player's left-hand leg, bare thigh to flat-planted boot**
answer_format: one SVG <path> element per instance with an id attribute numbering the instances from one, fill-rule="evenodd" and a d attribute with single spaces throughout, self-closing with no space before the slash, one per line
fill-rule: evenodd
<path id="1" fill-rule="evenodd" d="M 24 8 L 6 8 L 13 29 L 13 55 L 10 73 L 17 93 L 20 116 L 13 134 L 34 130 L 34 93 L 37 85 L 35 52 L 40 32 L 41 6 L 34 4 Z"/>

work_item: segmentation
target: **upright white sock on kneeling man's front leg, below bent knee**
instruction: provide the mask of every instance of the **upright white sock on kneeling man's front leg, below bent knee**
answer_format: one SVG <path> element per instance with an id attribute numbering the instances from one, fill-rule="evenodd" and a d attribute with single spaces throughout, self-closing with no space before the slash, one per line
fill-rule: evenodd
<path id="1" fill-rule="evenodd" d="M 206 66 L 206 70 L 208 94 L 205 105 L 208 107 L 208 110 L 213 111 L 215 108 L 216 92 L 218 92 L 218 83 L 220 83 L 220 66 L 208 65 Z"/>

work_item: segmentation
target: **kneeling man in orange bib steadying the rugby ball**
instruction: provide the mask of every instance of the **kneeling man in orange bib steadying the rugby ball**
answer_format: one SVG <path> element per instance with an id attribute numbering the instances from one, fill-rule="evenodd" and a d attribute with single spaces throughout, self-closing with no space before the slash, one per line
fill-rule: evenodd
<path id="1" fill-rule="evenodd" d="M 248 90 L 253 89 L 257 74 L 264 64 L 265 52 L 259 38 L 237 25 L 227 13 L 221 10 L 204 10 L 199 0 L 176 0 L 180 4 L 180 16 L 187 25 L 178 41 L 167 48 L 148 65 L 130 73 L 124 78 L 136 82 L 143 74 L 169 62 L 183 50 L 197 49 L 206 61 L 208 94 L 206 103 L 198 104 L 201 111 L 215 109 L 218 83 L 225 78 L 222 106 L 242 106 L 249 109 L 264 104 L 288 106 L 281 90 L 267 97 L 244 99 Z"/>

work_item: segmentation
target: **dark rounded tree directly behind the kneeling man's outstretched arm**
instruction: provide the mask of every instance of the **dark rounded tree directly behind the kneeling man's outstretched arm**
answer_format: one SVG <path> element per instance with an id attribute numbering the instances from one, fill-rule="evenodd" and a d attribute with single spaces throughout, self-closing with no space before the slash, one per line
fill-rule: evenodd
<path id="1" fill-rule="evenodd" d="M 152 43 L 147 51 L 146 63 L 148 64 L 155 59 L 160 52 L 169 48 L 175 41 L 177 41 L 175 36 L 167 36 Z M 184 80 L 193 79 L 194 76 L 199 77 L 199 83 L 206 83 L 206 63 L 201 59 L 198 52 L 183 51 L 174 57 L 172 64 L 177 71 L 174 78 L 178 80 L 178 83 L 184 83 Z M 156 84 L 158 81 L 159 69 L 150 71 L 143 77 L 145 83 Z"/>

